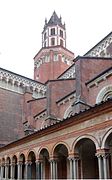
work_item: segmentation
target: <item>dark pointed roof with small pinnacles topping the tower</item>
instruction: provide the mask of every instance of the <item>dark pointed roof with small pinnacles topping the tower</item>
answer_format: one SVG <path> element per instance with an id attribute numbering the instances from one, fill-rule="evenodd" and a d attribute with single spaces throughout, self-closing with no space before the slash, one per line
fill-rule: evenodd
<path id="1" fill-rule="evenodd" d="M 61 17 L 59 18 L 55 11 L 53 12 L 48 23 L 47 22 L 45 23 L 44 29 L 46 29 L 48 26 L 53 26 L 53 25 L 59 25 L 65 29 L 65 24 L 62 24 Z"/>

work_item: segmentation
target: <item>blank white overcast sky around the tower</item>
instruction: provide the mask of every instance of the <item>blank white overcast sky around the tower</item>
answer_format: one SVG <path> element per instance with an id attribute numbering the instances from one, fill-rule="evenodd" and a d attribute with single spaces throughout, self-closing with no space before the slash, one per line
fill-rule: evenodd
<path id="1" fill-rule="evenodd" d="M 67 49 L 85 54 L 112 31 L 112 0 L 0 0 L 0 67 L 33 78 L 45 18 L 66 24 Z"/>

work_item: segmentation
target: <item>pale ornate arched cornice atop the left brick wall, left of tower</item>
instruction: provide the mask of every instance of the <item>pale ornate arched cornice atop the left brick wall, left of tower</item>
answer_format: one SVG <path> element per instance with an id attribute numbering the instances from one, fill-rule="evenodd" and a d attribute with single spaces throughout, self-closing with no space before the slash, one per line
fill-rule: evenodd
<path id="1" fill-rule="evenodd" d="M 39 95 L 39 97 L 46 94 L 44 84 L 2 68 L 0 68 L 0 87 L 20 94 L 24 94 L 25 90 L 29 89 L 32 94 L 36 93 L 36 96 Z"/>

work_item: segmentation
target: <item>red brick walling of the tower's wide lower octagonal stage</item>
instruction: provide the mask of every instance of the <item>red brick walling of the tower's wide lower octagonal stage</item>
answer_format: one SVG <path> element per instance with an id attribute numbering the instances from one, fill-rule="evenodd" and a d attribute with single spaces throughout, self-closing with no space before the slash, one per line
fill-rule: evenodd
<path id="1" fill-rule="evenodd" d="M 42 53 L 43 52 L 43 53 Z M 54 59 L 54 55 L 57 54 L 58 59 Z M 70 66 L 62 62 L 62 55 L 68 56 L 70 59 L 74 58 L 74 54 L 70 53 L 68 50 L 63 50 L 60 48 L 44 49 L 40 51 L 37 57 L 34 58 L 35 61 L 42 59 L 43 56 L 49 55 L 49 62 L 44 62 L 40 65 L 39 68 L 34 68 L 34 79 L 39 82 L 45 83 L 48 80 L 57 79 L 66 69 Z"/>

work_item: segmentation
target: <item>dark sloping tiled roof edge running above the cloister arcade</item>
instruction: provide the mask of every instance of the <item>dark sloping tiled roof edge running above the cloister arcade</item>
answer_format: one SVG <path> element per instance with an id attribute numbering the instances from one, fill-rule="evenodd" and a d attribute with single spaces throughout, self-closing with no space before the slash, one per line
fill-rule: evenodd
<path id="1" fill-rule="evenodd" d="M 107 106 L 106 106 L 107 105 Z M 80 118 L 85 118 L 85 117 L 89 117 L 88 113 L 90 113 L 91 115 L 95 115 L 95 113 L 102 113 L 101 110 L 107 109 L 107 107 L 112 107 L 112 98 L 107 99 L 106 101 L 102 101 L 99 104 L 95 104 L 92 107 L 88 107 L 85 110 L 80 111 L 79 113 L 75 113 L 74 115 L 71 115 L 70 117 L 67 117 L 66 119 L 63 119 L 61 121 L 55 121 L 54 123 L 52 123 L 51 125 L 48 125 L 40 130 L 37 130 L 36 132 L 29 134 L 21 139 L 18 139 L 16 141 L 13 141 L 3 147 L 0 148 L 0 152 L 8 149 L 8 148 L 12 148 L 13 146 L 19 146 L 21 143 L 25 142 L 29 142 L 32 141 L 35 138 L 40 138 L 43 135 L 45 136 L 46 134 L 50 134 L 53 131 L 57 131 L 57 128 L 61 128 L 65 125 L 65 123 L 70 124 L 73 122 L 79 121 Z M 80 118 L 79 118 L 80 117 Z"/>

